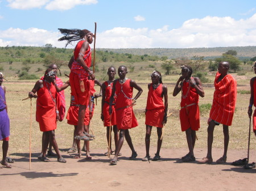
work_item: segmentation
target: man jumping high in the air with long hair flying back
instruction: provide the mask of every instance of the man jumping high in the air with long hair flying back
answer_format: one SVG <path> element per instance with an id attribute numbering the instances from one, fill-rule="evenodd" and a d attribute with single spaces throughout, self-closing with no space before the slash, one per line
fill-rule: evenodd
<path id="1" fill-rule="evenodd" d="M 92 138 L 89 134 L 84 134 L 84 117 L 86 106 L 89 104 L 90 84 L 88 76 L 94 79 L 93 71 L 90 70 L 92 55 L 89 44 L 93 42 L 93 33 L 87 29 L 63 29 L 59 28 L 64 35 L 59 41 L 67 40 L 67 44 L 72 41 L 80 40 L 74 50 L 74 55 L 69 61 L 69 68 L 71 73 L 69 75 L 69 82 L 71 86 L 72 95 L 75 97 L 76 105 L 79 105 L 79 116 L 77 123 L 76 139 L 83 140 Z"/>

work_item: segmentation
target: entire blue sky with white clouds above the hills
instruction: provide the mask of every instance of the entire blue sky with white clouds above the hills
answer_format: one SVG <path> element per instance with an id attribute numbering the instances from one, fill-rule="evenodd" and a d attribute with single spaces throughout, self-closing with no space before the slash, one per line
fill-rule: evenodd
<path id="1" fill-rule="evenodd" d="M 7 0 L 0 46 L 64 47 L 57 28 L 94 32 L 94 22 L 96 48 L 256 45 L 256 1 Z"/>

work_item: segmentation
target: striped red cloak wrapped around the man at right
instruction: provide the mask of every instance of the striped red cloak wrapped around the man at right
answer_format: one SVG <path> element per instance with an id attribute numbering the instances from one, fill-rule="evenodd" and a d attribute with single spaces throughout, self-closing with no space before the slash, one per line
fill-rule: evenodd
<path id="1" fill-rule="evenodd" d="M 210 109 L 210 118 L 220 124 L 230 126 L 232 125 L 236 107 L 237 82 L 230 74 L 226 75 L 220 82 L 217 82 L 220 75 L 220 73 L 217 73 L 214 80 L 215 91 L 212 109 Z"/>

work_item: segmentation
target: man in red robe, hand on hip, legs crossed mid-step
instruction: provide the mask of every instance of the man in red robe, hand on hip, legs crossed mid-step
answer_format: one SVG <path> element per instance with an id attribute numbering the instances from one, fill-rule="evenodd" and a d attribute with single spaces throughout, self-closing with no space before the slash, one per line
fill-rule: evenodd
<path id="1" fill-rule="evenodd" d="M 109 114 L 112 114 L 112 104 L 114 101 L 114 95 L 117 95 L 115 103 L 115 113 L 117 117 L 117 128 L 120 131 L 119 140 L 117 143 L 117 150 L 115 156 L 110 160 L 110 164 L 117 164 L 118 154 L 122 148 L 124 138 L 126 139 L 129 147 L 131 148 L 132 154 L 130 159 L 137 157 L 137 152 L 134 150 L 133 142 L 129 134 L 129 129 L 138 126 L 138 122 L 133 112 L 133 104 L 135 100 L 142 94 L 142 88 L 138 86 L 131 79 L 126 78 L 127 67 L 119 66 L 118 75 L 119 79 L 114 80 L 113 90 L 109 101 Z M 133 88 L 138 90 L 137 95 L 133 98 Z"/>

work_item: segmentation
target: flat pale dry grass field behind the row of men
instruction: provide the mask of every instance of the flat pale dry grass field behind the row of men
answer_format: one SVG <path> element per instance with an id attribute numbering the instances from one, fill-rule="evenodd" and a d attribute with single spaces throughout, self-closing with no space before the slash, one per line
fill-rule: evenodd
<path id="1" fill-rule="evenodd" d="M 132 75 L 131 75 L 132 76 Z M 237 75 L 235 75 L 238 77 Z M 130 77 L 130 75 L 127 75 Z M 249 79 L 253 77 L 253 74 L 247 77 L 238 77 L 238 90 L 250 90 Z M 165 148 L 181 148 L 187 147 L 185 133 L 180 130 L 179 120 L 179 104 L 180 95 L 173 97 L 172 91 L 174 90 L 177 76 L 164 77 L 168 87 L 168 105 L 171 109 L 172 116 L 168 118 L 166 128 L 164 129 L 163 147 Z M 213 81 L 214 75 L 210 76 L 210 80 Z M 62 78 L 63 81 L 67 78 Z M 147 83 L 150 82 L 150 78 L 143 80 L 136 80 L 143 88 L 143 94 L 137 100 L 137 105 L 134 107 L 139 126 L 130 130 L 131 137 L 133 138 L 134 145 L 144 145 L 145 125 L 144 125 L 144 108 L 147 100 Z M 27 97 L 28 91 L 32 89 L 35 81 L 20 82 L 15 79 L 10 79 L 8 82 L 4 82 L 7 88 L 6 98 L 9 109 L 9 117 L 11 121 L 11 137 L 9 154 L 22 155 L 29 152 L 29 129 L 30 129 L 30 99 L 22 101 Z M 98 91 L 98 87 L 97 87 Z M 212 103 L 214 87 L 212 84 L 204 84 L 205 97 L 200 98 L 200 104 Z M 136 93 L 136 92 L 135 92 Z M 70 88 L 65 91 L 67 109 L 69 105 Z M 249 118 L 247 116 L 247 105 L 249 103 L 249 94 L 237 95 L 237 107 L 234 114 L 233 125 L 230 127 L 230 144 L 229 148 L 246 149 L 248 141 L 249 131 Z M 92 129 L 96 134 L 96 139 L 90 142 L 90 150 L 93 152 L 93 148 L 106 149 L 105 141 L 105 128 L 100 119 L 100 103 L 101 98 L 97 101 L 93 121 Z M 35 121 L 35 106 L 36 99 L 32 99 L 32 152 L 39 151 L 41 147 L 42 132 L 39 130 L 39 125 Z M 207 148 L 207 119 L 209 111 L 201 113 L 201 128 L 197 132 L 199 140 L 196 142 L 196 147 Z M 73 138 L 73 126 L 67 124 L 67 120 L 58 122 L 58 128 L 56 130 L 56 139 L 60 150 L 66 150 L 72 145 Z M 156 129 L 152 130 L 151 145 L 156 146 Z M 251 148 L 255 148 L 256 139 L 251 133 Z M 224 138 L 222 134 L 222 126 L 216 126 L 214 131 L 213 147 L 223 147 Z M 2 152 L 2 151 L 1 151 Z M 206 152 L 206 149 L 205 149 Z"/>

